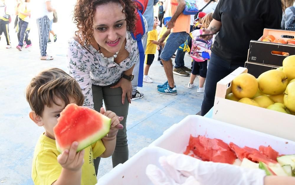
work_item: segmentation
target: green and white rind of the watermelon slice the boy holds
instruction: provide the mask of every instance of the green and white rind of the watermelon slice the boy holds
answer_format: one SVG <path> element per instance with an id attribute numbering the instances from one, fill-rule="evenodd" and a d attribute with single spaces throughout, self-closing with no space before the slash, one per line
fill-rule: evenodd
<path id="1" fill-rule="evenodd" d="M 108 118 L 107 116 L 102 116 L 102 119 L 104 121 L 103 121 L 103 126 L 102 126 L 101 130 L 99 130 L 98 132 L 89 136 L 88 139 L 83 139 L 83 141 L 77 141 L 79 143 L 78 143 L 78 148 L 77 148 L 76 152 L 79 152 L 79 151 L 83 150 L 84 148 L 91 146 L 93 143 L 96 143 L 101 138 L 106 136 L 107 133 L 109 133 L 112 120 L 110 118 Z M 65 150 L 65 149 L 62 149 L 58 145 L 58 142 L 56 142 L 56 148 L 60 153 L 62 153 Z"/>

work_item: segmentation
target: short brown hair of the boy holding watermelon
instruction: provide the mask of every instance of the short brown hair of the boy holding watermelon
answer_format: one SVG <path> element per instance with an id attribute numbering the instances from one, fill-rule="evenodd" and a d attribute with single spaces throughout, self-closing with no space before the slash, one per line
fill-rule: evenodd
<path id="1" fill-rule="evenodd" d="M 31 109 L 39 116 L 42 116 L 45 105 L 58 105 L 55 98 L 63 100 L 65 105 L 70 103 L 69 98 L 74 98 L 79 106 L 84 103 L 78 82 L 58 68 L 42 71 L 35 76 L 27 87 L 26 98 Z"/>

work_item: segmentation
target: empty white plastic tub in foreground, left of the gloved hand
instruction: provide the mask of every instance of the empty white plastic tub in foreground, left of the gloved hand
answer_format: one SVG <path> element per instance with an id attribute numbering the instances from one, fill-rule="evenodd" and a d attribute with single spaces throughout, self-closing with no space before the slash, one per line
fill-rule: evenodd
<path id="1" fill-rule="evenodd" d="M 149 164 L 154 164 L 160 169 L 159 157 L 168 156 L 173 152 L 159 147 L 146 147 L 132 156 L 124 164 L 117 165 L 109 173 L 98 179 L 99 185 L 152 185 L 153 183 L 145 174 Z"/>

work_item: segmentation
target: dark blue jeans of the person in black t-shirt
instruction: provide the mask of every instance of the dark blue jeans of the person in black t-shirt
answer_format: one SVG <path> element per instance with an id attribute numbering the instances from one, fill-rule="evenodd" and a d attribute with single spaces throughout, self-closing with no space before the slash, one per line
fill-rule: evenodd
<path id="1" fill-rule="evenodd" d="M 217 82 L 229 75 L 238 67 L 244 67 L 244 65 L 244 63 L 231 64 L 212 52 L 207 70 L 204 100 L 201 105 L 202 116 L 204 116 L 214 105 Z"/>

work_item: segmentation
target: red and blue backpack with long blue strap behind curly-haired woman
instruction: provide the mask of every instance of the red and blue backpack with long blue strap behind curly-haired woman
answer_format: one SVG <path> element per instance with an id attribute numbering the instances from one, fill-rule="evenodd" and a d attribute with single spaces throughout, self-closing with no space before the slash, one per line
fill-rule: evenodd
<path id="1" fill-rule="evenodd" d="M 148 5 L 148 0 L 133 0 L 136 6 L 135 13 L 137 20 L 135 21 L 135 30 L 131 33 L 132 38 L 137 41 L 137 47 L 139 51 L 139 72 L 137 86 L 142 87 L 143 83 L 143 65 L 145 60 L 145 53 L 142 45 L 142 36 L 145 34 L 145 24 L 142 14 Z"/>

